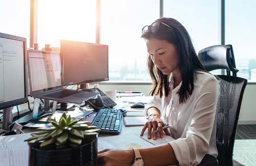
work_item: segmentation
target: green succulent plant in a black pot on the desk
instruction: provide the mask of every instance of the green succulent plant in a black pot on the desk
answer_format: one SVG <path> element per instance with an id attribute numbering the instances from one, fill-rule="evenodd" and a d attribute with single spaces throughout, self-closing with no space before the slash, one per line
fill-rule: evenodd
<path id="1" fill-rule="evenodd" d="M 29 165 L 96 165 L 97 137 L 100 131 L 65 113 L 53 127 L 38 128 L 29 144 Z"/>

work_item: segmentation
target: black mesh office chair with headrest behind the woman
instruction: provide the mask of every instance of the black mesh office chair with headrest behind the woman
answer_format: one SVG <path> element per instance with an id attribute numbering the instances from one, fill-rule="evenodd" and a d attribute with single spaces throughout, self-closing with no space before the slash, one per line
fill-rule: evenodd
<path id="1" fill-rule="evenodd" d="M 204 48 L 198 57 L 207 71 L 226 70 L 226 75 L 215 75 L 220 86 L 216 115 L 218 160 L 206 154 L 199 165 L 233 165 L 234 137 L 247 79 L 237 77 L 239 70 L 236 69 L 232 45 Z"/>

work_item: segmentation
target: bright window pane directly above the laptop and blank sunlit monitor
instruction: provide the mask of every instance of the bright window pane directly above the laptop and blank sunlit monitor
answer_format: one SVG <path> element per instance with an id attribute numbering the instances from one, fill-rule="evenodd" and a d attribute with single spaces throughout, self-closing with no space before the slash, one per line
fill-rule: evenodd
<path id="1" fill-rule="evenodd" d="M 95 43 L 96 0 L 38 0 L 39 49 L 60 39 Z"/>

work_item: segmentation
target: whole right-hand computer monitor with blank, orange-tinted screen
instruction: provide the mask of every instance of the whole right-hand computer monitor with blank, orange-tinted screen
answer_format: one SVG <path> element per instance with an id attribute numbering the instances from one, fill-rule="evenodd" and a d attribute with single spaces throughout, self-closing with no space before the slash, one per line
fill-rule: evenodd
<path id="1" fill-rule="evenodd" d="M 108 53 L 108 45 L 61 40 L 62 85 L 109 80 Z"/>

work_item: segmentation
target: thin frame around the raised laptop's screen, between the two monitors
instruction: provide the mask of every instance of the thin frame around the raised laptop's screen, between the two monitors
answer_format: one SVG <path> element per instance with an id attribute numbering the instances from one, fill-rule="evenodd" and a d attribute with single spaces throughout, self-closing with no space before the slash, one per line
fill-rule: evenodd
<path id="1" fill-rule="evenodd" d="M 31 73 L 30 73 L 30 65 L 29 65 L 29 53 L 41 53 L 41 54 L 59 54 L 59 52 L 53 52 L 53 51 L 41 51 L 41 50 L 28 50 L 28 73 L 29 73 L 29 88 L 30 88 L 30 95 L 36 95 L 38 93 L 42 93 L 42 92 L 46 92 L 46 91 L 50 91 L 50 90 L 54 90 L 54 89 L 59 89 L 62 88 L 62 84 L 60 86 L 57 87 L 51 87 L 51 88 L 45 88 L 45 89 L 41 89 L 41 90 L 36 90 L 33 91 L 32 89 L 32 84 L 31 84 Z M 60 78 L 61 79 L 61 78 Z"/>

